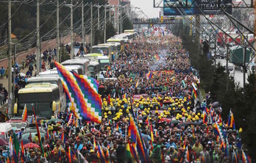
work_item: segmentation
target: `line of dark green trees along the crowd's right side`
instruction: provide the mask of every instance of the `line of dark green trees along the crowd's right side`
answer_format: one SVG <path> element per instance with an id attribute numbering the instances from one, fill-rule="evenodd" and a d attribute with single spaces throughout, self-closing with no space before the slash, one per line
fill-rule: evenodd
<path id="1" fill-rule="evenodd" d="M 241 133 L 243 148 L 248 149 L 253 162 L 256 160 L 256 76 L 252 74 L 248 77 L 246 91 L 243 92 L 243 88 L 235 84 L 233 79 L 227 79 L 227 73 L 224 73 L 221 65 L 214 68 L 213 60 L 207 59 L 207 56 L 202 54 L 202 49 L 197 48 L 198 40 L 193 40 L 188 29 L 189 26 L 184 26 L 180 22 L 173 26 L 172 32 L 182 38 L 183 46 L 188 49 L 191 65 L 199 70 L 202 89 L 206 93 L 210 92 L 213 102 L 220 102 L 223 109 L 221 117 L 224 122 L 232 109 L 236 129 L 243 129 Z"/>

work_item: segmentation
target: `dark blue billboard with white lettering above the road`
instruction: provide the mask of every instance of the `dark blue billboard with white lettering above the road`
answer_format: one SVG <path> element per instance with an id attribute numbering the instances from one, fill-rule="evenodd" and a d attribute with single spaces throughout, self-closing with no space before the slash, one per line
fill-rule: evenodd
<path id="1" fill-rule="evenodd" d="M 232 14 L 232 0 L 163 0 L 163 15 Z"/>

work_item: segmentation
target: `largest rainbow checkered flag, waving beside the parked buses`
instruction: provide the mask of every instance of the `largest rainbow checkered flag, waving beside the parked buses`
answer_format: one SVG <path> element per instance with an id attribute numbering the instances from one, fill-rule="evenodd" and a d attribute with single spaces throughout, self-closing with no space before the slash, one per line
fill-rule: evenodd
<path id="1" fill-rule="evenodd" d="M 71 107 L 75 110 L 77 117 L 95 123 L 102 122 L 102 100 L 96 92 L 96 88 L 88 83 L 85 76 L 71 73 L 63 65 L 54 62 L 60 78 L 65 84 L 65 93 L 71 101 Z"/>

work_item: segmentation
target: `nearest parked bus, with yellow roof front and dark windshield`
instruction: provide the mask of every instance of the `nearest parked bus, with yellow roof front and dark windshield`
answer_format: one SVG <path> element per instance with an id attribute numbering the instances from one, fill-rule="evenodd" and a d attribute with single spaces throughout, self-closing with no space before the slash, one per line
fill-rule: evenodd
<path id="1" fill-rule="evenodd" d="M 64 94 L 62 94 L 64 96 Z M 18 103 L 14 105 L 13 114 L 21 116 L 26 104 L 27 115 L 35 115 L 51 119 L 52 115 L 58 112 L 65 112 L 65 104 L 61 101 L 59 87 L 57 84 L 38 83 L 27 84 L 26 87 L 18 90 Z"/>

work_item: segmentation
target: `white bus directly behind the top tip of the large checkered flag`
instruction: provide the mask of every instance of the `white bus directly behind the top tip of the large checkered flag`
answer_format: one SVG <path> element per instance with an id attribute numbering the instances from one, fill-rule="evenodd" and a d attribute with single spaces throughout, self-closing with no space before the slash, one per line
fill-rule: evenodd
<path id="1" fill-rule="evenodd" d="M 64 62 L 61 63 L 61 65 L 64 65 L 67 68 L 77 68 L 74 66 L 79 66 L 82 68 L 82 74 L 86 76 L 90 76 L 90 72 L 88 71 L 88 65 L 89 65 L 89 60 L 88 59 L 68 59 Z M 79 69 L 77 69 L 79 70 Z M 79 72 L 77 72 L 79 74 Z"/>

